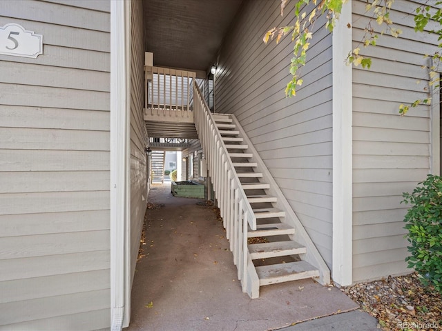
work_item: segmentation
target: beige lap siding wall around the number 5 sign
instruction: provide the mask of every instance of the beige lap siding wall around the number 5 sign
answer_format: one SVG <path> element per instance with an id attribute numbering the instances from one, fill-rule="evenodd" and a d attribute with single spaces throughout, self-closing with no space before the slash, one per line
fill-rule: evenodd
<path id="1" fill-rule="evenodd" d="M 0 1 L 44 36 L 0 55 L 0 330 L 110 323 L 110 3 Z"/>

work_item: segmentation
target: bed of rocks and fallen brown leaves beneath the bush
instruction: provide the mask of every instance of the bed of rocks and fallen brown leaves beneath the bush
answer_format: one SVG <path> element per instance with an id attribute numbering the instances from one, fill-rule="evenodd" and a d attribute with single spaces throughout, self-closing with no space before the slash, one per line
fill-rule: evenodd
<path id="1" fill-rule="evenodd" d="M 423 287 L 416 273 L 341 290 L 376 317 L 381 330 L 442 330 L 442 296 Z"/>

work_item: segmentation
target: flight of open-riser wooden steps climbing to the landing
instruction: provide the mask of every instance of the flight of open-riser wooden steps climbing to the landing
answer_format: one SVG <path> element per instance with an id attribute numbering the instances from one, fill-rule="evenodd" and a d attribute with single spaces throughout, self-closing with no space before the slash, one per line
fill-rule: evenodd
<path id="1" fill-rule="evenodd" d="M 239 123 L 229 114 L 214 114 L 213 119 L 256 217 L 256 230 L 247 230 L 248 257 L 258 277 L 258 283 L 250 284 L 251 297 L 258 297 L 262 285 L 320 277 L 318 268 L 302 260 L 307 248 L 294 240 L 294 225 L 276 207 L 278 197 L 269 193 L 268 178 L 257 170 L 258 159 L 262 160 L 244 141 Z"/>

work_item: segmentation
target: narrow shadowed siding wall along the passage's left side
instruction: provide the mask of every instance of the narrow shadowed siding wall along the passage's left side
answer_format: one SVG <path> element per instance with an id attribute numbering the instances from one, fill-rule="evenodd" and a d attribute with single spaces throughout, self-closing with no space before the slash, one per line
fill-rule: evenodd
<path id="1" fill-rule="evenodd" d="M 144 48 L 142 1 L 132 3 L 131 26 L 131 281 L 135 274 L 138 248 L 146 212 L 147 146 L 144 106 Z"/>

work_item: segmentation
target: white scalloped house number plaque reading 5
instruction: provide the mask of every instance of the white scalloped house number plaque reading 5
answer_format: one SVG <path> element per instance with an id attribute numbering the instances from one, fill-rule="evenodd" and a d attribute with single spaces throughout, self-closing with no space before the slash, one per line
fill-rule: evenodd
<path id="1" fill-rule="evenodd" d="M 36 59 L 43 54 L 43 35 L 15 23 L 0 26 L 0 54 Z"/>

